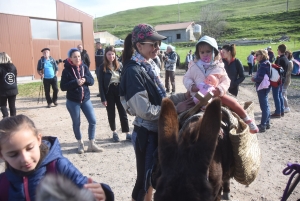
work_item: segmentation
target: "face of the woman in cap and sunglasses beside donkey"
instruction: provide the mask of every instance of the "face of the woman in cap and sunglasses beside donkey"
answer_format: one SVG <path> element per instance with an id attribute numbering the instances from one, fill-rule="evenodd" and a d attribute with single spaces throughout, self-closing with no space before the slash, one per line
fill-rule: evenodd
<path id="1" fill-rule="evenodd" d="M 146 59 L 154 59 L 159 51 L 159 41 L 138 42 L 137 48 L 139 53 Z"/>

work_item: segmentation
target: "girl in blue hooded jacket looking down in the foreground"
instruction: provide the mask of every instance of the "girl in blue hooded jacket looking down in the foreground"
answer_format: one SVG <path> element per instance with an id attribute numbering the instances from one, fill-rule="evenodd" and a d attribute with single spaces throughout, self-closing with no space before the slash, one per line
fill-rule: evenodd
<path id="1" fill-rule="evenodd" d="M 93 183 L 91 178 L 83 176 L 62 156 L 58 139 L 42 137 L 34 122 L 25 115 L 0 121 L 0 158 L 7 167 L 0 175 L 0 199 L 34 201 L 37 185 L 51 172 L 64 175 L 79 188 L 89 189 L 96 199 L 114 200 L 108 185 Z"/>

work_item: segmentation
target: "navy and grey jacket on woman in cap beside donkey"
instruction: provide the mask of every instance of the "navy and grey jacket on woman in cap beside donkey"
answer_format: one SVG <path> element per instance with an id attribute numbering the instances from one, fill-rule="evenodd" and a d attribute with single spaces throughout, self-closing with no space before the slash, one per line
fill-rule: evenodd
<path id="1" fill-rule="evenodd" d="M 136 116 L 133 125 L 157 132 L 162 97 L 137 62 L 124 62 L 119 90 L 124 109 L 129 115 Z"/>

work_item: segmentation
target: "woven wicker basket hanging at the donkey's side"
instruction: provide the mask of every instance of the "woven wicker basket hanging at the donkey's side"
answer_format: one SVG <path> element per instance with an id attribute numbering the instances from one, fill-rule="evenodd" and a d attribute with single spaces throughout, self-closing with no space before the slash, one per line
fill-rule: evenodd
<path id="1" fill-rule="evenodd" d="M 244 109 L 253 118 L 253 102 L 246 102 Z M 251 134 L 248 125 L 234 112 L 232 115 L 238 120 L 237 127 L 232 127 L 229 138 L 234 155 L 234 179 L 244 185 L 251 184 L 256 178 L 261 152 L 256 134 Z"/>

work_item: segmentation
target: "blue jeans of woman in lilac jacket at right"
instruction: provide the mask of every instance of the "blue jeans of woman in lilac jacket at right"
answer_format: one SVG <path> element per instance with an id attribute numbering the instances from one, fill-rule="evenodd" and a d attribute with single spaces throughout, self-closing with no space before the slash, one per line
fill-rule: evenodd
<path id="1" fill-rule="evenodd" d="M 259 106 L 261 110 L 260 124 L 262 126 L 270 124 L 270 106 L 268 102 L 268 94 L 270 90 L 271 87 L 257 91 Z"/>

